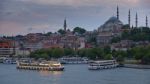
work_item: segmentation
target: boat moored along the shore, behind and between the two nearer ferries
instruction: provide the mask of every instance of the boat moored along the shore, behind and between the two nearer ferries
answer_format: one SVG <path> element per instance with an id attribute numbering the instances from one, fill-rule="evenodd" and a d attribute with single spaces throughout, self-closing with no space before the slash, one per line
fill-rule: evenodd
<path id="1" fill-rule="evenodd" d="M 62 57 L 59 59 L 62 64 L 87 64 L 88 59 L 86 57 Z"/>

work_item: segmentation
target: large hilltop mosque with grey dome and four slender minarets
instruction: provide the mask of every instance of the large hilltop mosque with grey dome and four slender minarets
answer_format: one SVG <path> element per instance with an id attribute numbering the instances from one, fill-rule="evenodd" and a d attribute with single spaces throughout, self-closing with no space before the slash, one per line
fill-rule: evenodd
<path id="1" fill-rule="evenodd" d="M 128 13 L 128 25 L 131 28 L 131 14 Z M 117 15 L 110 17 L 103 25 L 98 27 L 96 38 L 98 45 L 108 45 L 113 37 L 121 36 L 123 22 L 119 19 L 119 7 L 117 6 Z M 148 27 L 148 17 L 146 16 L 146 27 Z M 135 16 L 135 28 L 138 28 L 138 14 Z"/>

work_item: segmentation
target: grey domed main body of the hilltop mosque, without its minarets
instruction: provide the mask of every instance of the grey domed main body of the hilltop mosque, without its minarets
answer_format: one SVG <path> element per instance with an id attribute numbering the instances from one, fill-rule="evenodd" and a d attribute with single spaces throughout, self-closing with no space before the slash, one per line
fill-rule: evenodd
<path id="1" fill-rule="evenodd" d="M 97 35 L 98 45 L 107 45 L 110 43 L 112 37 L 120 36 L 123 23 L 117 17 L 111 17 L 102 26 L 98 28 Z"/>

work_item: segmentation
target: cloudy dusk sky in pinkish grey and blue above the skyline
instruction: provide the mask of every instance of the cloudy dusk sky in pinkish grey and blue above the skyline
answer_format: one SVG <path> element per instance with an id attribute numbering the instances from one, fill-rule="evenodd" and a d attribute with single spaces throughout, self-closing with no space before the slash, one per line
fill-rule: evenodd
<path id="1" fill-rule="evenodd" d="M 117 5 L 124 24 L 129 9 L 133 26 L 136 12 L 139 26 L 145 26 L 146 15 L 150 20 L 150 0 L 0 0 L 0 36 L 56 32 L 65 18 L 70 30 L 92 31 L 116 16 Z"/>

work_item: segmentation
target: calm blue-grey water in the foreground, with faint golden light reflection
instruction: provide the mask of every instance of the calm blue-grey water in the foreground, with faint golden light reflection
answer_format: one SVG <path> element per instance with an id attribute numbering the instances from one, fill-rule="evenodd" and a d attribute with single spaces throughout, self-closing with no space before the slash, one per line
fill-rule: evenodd
<path id="1" fill-rule="evenodd" d="M 0 84 L 150 84 L 150 70 L 117 68 L 89 71 L 87 65 L 65 65 L 63 72 L 17 70 L 0 64 Z"/>

